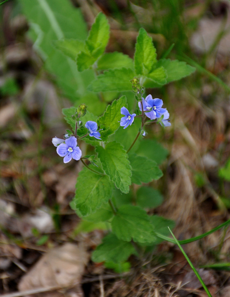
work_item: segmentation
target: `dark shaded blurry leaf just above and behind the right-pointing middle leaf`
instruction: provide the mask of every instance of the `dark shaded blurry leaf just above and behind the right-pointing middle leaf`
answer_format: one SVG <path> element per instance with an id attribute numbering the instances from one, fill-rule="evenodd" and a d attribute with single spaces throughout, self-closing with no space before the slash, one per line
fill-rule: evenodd
<path id="1" fill-rule="evenodd" d="M 155 139 L 142 140 L 135 153 L 140 156 L 147 156 L 148 159 L 157 162 L 158 165 L 161 164 L 169 154 L 168 150 Z"/>

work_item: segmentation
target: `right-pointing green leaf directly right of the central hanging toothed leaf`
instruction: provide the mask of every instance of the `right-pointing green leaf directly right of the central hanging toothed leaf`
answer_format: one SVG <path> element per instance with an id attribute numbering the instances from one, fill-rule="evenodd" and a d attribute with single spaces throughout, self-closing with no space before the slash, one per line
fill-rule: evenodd
<path id="1" fill-rule="evenodd" d="M 134 184 L 149 183 L 153 179 L 156 180 L 163 176 L 157 163 L 147 157 L 129 154 L 129 161 L 132 167 L 132 182 Z"/>

